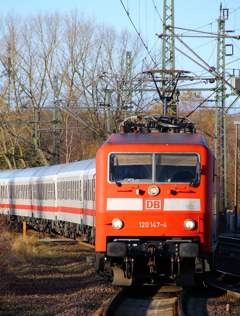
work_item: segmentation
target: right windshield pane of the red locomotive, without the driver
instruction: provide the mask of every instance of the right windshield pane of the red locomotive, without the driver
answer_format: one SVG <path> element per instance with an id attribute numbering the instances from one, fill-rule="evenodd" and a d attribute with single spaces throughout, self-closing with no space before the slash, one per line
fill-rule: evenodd
<path id="1" fill-rule="evenodd" d="M 198 183 L 199 156 L 195 153 L 155 154 L 155 182 Z"/>

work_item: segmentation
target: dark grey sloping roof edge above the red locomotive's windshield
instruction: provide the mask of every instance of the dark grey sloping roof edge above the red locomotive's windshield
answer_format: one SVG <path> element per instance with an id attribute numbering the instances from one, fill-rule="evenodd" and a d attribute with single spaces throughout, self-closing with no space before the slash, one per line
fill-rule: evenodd
<path id="1" fill-rule="evenodd" d="M 119 133 L 112 134 L 107 144 L 205 144 L 201 134 L 198 133 Z"/>

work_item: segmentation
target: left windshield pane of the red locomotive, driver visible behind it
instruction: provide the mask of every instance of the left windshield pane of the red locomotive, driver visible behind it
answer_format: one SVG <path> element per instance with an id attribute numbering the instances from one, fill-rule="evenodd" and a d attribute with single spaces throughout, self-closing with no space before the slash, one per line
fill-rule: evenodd
<path id="1" fill-rule="evenodd" d="M 152 182 L 152 154 L 114 153 L 109 158 L 111 182 Z"/>

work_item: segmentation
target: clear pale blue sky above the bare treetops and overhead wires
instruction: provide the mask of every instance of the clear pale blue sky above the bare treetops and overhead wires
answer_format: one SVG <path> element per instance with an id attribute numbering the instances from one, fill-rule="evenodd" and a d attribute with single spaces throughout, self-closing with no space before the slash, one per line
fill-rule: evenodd
<path id="1" fill-rule="evenodd" d="M 169 1 L 169 0 L 168 0 Z M 37 11 L 52 12 L 58 10 L 62 13 L 77 8 L 84 12 L 87 17 L 93 15 L 99 22 L 113 25 L 117 31 L 127 28 L 133 33 L 136 32 L 129 19 L 136 29 L 140 31 L 148 49 L 154 54 L 154 44 L 161 45 L 155 33 L 163 32 L 163 0 L 122 0 L 129 17 L 120 0 L 1 0 L 1 12 L 3 15 L 14 12 L 20 15 L 31 15 Z M 157 10 L 154 8 L 154 4 Z M 198 29 L 205 32 L 217 32 L 217 19 L 219 18 L 220 1 L 218 0 L 175 0 L 175 27 Z M 222 7 L 229 9 L 229 19 L 225 23 L 226 30 L 235 30 L 233 35 L 240 34 L 240 2 L 239 0 L 223 0 Z M 238 9 L 239 8 L 239 9 Z M 175 33 L 182 34 L 184 30 L 176 29 Z M 182 37 L 182 40 L 194 49 L 209 65 L 216 65 L 216 40 L 211 38 L 189 38 Z M 232 69 L 240 69 L 240 40 L 227 39 L 226 44 L 234 44 L 234 55 L 226 57 L 226 70 L 232 73 Z M 187 53 L 177 40 L 175 45 Z M 231 49 L 231 48 L 229 48 Z M 147 55 L 147 51 L 146 51 Z M 191 70 L 198 75 L 203 75 L 203 70 L 189 59 L 184 58 L 181 53 L 175 52 L 176 69 Z M 191 55 L 192 56 L 192 55 Z M 145 56 L 143 56 L 144 58 Z M 230 92 L 230 91 L 229 91 Z"/>

